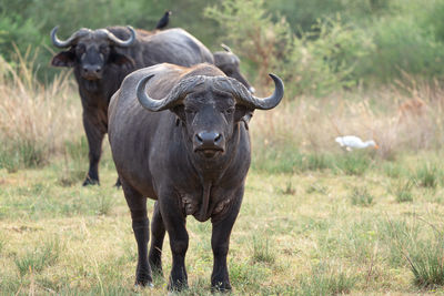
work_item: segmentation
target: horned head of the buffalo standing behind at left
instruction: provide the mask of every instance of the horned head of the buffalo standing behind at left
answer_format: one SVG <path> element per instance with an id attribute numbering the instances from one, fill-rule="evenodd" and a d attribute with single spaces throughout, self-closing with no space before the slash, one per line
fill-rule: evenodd
<path id="1" fill-rule="evenodd" d="M 130 31 L 128 40 L 121 40 L 108 29 L 80 29 L 70 38 L 62 41 L 57 38 L 56 27 L 51 31 L 52 44 L 58 48 L 69 48 L 52 58 L 51 64 L 56 67 L 74 67 L 85 80 L 99 80 L 102 78 L 107 64 L 133 64 L 133 60 L 115 51 L 115 48 L 128 48 L 135 41 L 135 31 Z"/>

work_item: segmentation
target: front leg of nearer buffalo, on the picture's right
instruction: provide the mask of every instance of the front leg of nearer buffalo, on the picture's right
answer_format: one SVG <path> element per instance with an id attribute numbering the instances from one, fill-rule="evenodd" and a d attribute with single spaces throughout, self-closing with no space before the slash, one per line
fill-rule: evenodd
<path id="1" fill-rule="evenodd" d="M 242 190 L 243 193 L 243 190 Z M 229 253 L 230 235 L 241 207 L 242 195 L 228 210 L 221 220 L 212 221 L 213 231 L 211 247 L 213 249 L 213 273 L 211 274 L 211 289 L 213 292 L 231 290 L 226 255 Z"/>

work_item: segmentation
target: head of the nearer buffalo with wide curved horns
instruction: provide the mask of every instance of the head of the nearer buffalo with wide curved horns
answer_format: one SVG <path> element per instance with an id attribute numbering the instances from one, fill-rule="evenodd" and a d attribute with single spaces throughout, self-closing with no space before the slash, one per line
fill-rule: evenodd
<path id="1" fill-rule="evenodd" d="M 284 93 L 282 80 L 274 74 L 270 74 L 275 84 L 274 93 L 265 99 L 255 98 L 232 78 L 193 75 L 182 79 L 165 98 L 153 100 L 145 92 L 145 84 L 152 76 L 139 82 L 139 102 L 152 112 L 167 109 L 174 112 L 184 123 L 185 137 L 193 152 L 205 159 L 224 154 L 234 125 L 248 112 L 276 106 Z"/>

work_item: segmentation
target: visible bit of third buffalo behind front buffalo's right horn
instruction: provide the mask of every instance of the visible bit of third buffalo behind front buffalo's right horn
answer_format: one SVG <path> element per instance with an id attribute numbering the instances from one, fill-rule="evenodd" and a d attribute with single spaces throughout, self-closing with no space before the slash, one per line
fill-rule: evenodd
<path id="1" fill-rule="evenodd" d="M 225 75 L 240 81 L 251 93 L 254 93 L 254 88 L 250 85 L 248 80 L 241 74 L 241 69 L 239 68 L 241 60 L 231 51 L 228 45 L 221 45 L 225 51 L 216 51 L 213 53 L 214 65 L 221 69 Z"/>

